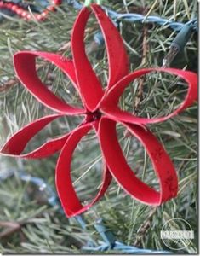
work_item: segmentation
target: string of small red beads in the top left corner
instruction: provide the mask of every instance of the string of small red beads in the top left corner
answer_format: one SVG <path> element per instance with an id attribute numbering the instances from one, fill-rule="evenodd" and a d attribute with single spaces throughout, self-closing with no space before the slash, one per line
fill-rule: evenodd
<path id="1" fill-rule="evenodd" d="M 49 15 L 49 12 L 55 11 L 55 6 L 60 5 L 62 3 L 62 0 L 52 0 L 52 4 L 49 5 L 46 9 L 43 10 L 41 14 L 35 14 L 34 17 L 37 21 L 42 21 L 47 18 L 47 15 Z M 19 15 L 24 20 L 31 20 L 32 16 L 30 13 L 20 7 L 20 5 L 16 3 L 6 3 L 4 1 L 0 1 L 0 9 L 9 9 L 12 12 L 14 12 L 16 15 Z"/>

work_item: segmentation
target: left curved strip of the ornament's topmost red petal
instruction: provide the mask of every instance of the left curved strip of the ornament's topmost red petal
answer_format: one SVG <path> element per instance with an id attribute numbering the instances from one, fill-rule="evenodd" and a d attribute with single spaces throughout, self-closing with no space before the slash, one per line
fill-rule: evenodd
<path id="1" fill-rule="evenodd" d="M 89 111 L 94 112 L 104 92 L 85 53 L 84 30 L 89 15 L 89 9 L 83 8 L 77 16 L 71 35 L 71 50 L 84 105 Z"/>

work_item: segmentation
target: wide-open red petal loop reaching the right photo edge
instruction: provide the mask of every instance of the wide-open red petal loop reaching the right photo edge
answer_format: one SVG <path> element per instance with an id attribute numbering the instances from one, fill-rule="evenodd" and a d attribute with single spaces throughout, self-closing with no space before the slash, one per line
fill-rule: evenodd
<path id="1" fill-rule="evenodd" d="M 177 75 L 181 79 L 184 79 L 188 84 L 188 90 L 186 94 L 186 98 L 184 102 L 180 105 L 179 108 L 175 109 L 173 113 L 170 113 L 167 116 L 148 119 L 148 118 L 140 118 L 134 116 L 131 113 L 121 110 L 118 108 L 117 104 L 119 101 L 119 97 L 123 94 L 123 90 L 132 82 L 134 79 L 140 78 L 140 76 L 151 73 L 151 72 L 164 72 Z M 135 71 L 134 73 L 130 73 L 128 76 L 121 79 L 117 84 L 115 84 L 111 90 L 108 91 L 104 100 L 100 104 L 100 109 L 103 113 L 106 113 L 111 119 L 120 120 L 123 122 L 131 123 L 131 124 L 152 124 L 157 122 L 163 122 L 169 118 L 174 117 L 177 113 L 180 113 L 185 108 L 191 106 L 193 102 L 197 100 L 197 74 L 191 73 L 189 71 L 184 71 L 180 69 L 174 68 L 147 68 L 140 69 Z"/>

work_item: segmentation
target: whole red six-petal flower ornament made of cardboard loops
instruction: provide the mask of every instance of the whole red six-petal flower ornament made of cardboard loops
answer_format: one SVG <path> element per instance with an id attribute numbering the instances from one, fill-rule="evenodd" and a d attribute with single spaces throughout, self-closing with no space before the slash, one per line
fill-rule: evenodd
<path id="1" fill-rule="evenodd" d="M 100 24 L 106 43 L 109 79 L 105 90 L 90 66 L 84 48 L 84 30 L 91 12 L 94 13 Z M 14 55 L 14 68 L 21 83 L 39 102 L 53 109 L 56 113 L 37 119 L 16 132 L 3 146 L 1 154 L 37 159 L 48 157 L 60 150 L 55 182 L 62 207 L 68 217 L 86 211 L 98 201 L 106 192 L 112 177 L 129 195 L 147 205 L 160 205 L 164 201 L 173 198 L 177 195 L 178 189 L 174 165 L 161 143 L 148 130 L 146 124 L 163 122 L 191 106 L 197 100 L 197 75 L 174 68 L 147 68 L 129 73 L 129 60 L 123 45 L 123 39 L 112 21 L 97 4 L 92 4 L 90 9 L 84 7 L 80 11 L 73 26 L 71 37 L 72 61 L 63 58 L 61 55 L 46 52 L 22 51 Z M 83 108 L 74 108 L 68 105 L 42 83 L 36 72 L 35 59 L 37 57 L 54 63 L 55 66 L 66 73 L 82 99 Z M 174 74 L 186 80 L 188 91 L 180 107 L 174 113 L 156 119 L 140 118 L 121 110 L 118 107 L 119 97 L 129 83 L 144 74 L 155 71 Z M 38 131 L 41 131 L 45 125 L 48 125 L 54 119 L 65 115 L 83 115 L 85 119 L 82 124 L 68 134 L 44 143 L 40 148 L 29 154 L 23 154 L 26 144 Z M 158 177 L 160 191 L 143 183 L 129 167 L 117 141 L 117 123 L 128 129 L 146 148 Z M 99 139 L 103 155 L 103 181 L 94 200 L 89 205 L 82 206 L 71 183 L 71 157 L 77 143 L 92 129 L 94 129 Z"/>

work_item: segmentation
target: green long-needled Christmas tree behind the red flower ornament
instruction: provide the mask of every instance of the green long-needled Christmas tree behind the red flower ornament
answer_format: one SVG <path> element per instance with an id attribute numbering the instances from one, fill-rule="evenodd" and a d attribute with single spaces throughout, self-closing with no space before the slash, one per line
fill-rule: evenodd
<path id="1" fill-rule="evenodd" d="M 0 9 L 1 146 L 21 127 L 53 113 L 20 83 L 14 71 L 14 54 L 20 50 L 34 50 L 57 53 L 69 59 L 72 57 L 71 31 L 84 3 L 62 1 L 48 12 L 45 19 L 37 19 L 35 14 L 43 13 L 49 2 L 15 1 L 26 9 L 31 17 L 29 20 Z M 169 60 L 167 64 L 170 67 L 197 73 L 197 21 L 194 21 L 197 18 L 197 1 L 98 3 L 106 8 L 106 13 L 122 35 L 130 71 L 162 67 L 163 60 Z M 167 54 L 173 53 L 171 45 L 174 38 L 188 21 L 190 37 L 187 44 L 182 45 L 177 55 L 174 53 L 169 58 Z M 89 61 L 101 84 L 106 86 L 108 57 L 94 15 L 89 17 L 84 42 Z M 72 106 L 81 107 L 80 96 L 60 68 L 43 58 L 37 58 L 36 67 L 39 78 L 49 90 Z M 187 88 L 186 81 L 173 74 L 146 74 L 135 79 L 123 91 L 120 108 L 143 118 L 167 116 L 180 107 Z M 26 152 L 75 129 L 82 121 L 82 116 L 55 119 L 31 139 Z M 134 200 L 113 180 L 106 195 L 87 212 L 77 218 L 66 218 L 54 185 L 59 153 L 41 160 L 0 156 L 0 253 L 83 253 L 87 252 L 86 249 L 92 252 L 94 248 L 104 249 L 106 253 L 127 253 L 128 247 L 124 245 L 132 249 L 197 253 L 197 102 L 173 118 L 148 125 L 148 128 L 169 154 L 179 180 L 178 195 L 159 207 Z M 117 125 L 117 138 L 136 176 L 159 189 L 146 148 L 120 124 Z M 89 131 L 78 143 L 71 162 L 73 186 L 84 205 L 100 188 L 102 164 L 95 131 Z M 176 222 L 178 218 L 186 222 Z M 186 246 L 182 246 L 186 241 L 180 240 L 177 245 L 174 242 L 169 247 L 160 235 L 169 220 L 174 220 L 177 230 L 188 230 L 189 223 L 194 239 Z M 98 224 L 106 227 L 105 232 Z M 105 240 L 108 239 L 106 247 L 102 246 L 104 238 L 100 229 L 106 234 Z M 116 241 L 122 244 L 114 247 Z M 129 250 L 129 253 L 133 251 Z"/>

